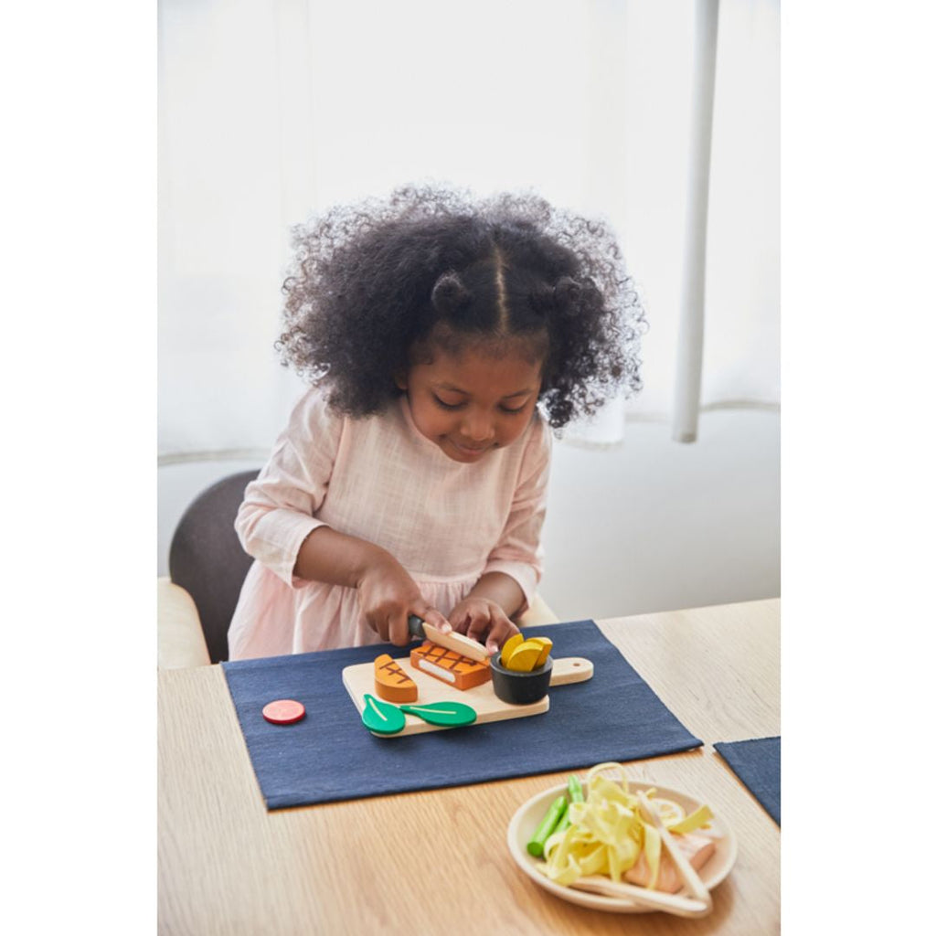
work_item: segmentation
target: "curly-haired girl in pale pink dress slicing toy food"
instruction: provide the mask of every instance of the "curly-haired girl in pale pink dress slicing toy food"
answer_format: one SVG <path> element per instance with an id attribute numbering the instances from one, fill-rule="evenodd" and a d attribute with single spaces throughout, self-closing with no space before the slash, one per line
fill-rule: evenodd
<path id="1" fill-rule="evenodd" d="M 541 577 L 551 436 L 640 387 L 607 227 L 538 197 L 403 188 L 294 232 L 284 364 L 310 379 L 236 520 L 231 659 L 409 642 L 496 652 Z"/>

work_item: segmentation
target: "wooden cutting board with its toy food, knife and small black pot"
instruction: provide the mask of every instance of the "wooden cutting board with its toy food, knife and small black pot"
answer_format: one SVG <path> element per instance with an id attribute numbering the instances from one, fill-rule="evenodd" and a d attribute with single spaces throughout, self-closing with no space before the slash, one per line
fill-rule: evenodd
<path id="1" fill-rule="evenodd" d="M 443 634 L 411 619 L 411 632 L 425 636 L 408 657 L 382 653 L 373 663 L 345 666 L 344 687 L 375 735 L 402 737 L 465 724 L 541 715 L 548 688 L 592 678 L 583 657 L 554 660 L 548 637 L 516 634 L 493 657 L 475 640 Z"/>

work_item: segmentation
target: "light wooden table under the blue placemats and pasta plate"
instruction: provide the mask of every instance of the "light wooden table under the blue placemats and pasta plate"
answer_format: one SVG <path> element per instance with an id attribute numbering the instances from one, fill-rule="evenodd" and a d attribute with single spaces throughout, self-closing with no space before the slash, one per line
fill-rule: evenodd
<path id="1" fill-rule="evenodd" d="M 628 774 L 696 794 L 734 829 L 738 861 L 708 917 L 586 910 L 520 873 L 510 817 L 567 771 L 267 812 L 215 665 L 159 674 L 159 932 L 780 932 L 780 830 L 711 748 L 780 734 L 779 619 L 768 600 L 598 622 L 706 742 Z M 402 861 L 402 842 L 417 862 Z"/>

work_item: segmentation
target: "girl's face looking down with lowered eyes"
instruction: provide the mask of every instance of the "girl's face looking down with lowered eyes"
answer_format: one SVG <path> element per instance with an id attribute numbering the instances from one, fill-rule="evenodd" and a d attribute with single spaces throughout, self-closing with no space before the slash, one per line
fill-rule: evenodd
<path id="1" fill-rule="evenodd" d="M 398 378 L 417 429 L 452 461 L 480 461 L 509 446 L 533 418 L 542 362 L 517 354 L 435 350 L 430 364 L 413 364 Z"/>

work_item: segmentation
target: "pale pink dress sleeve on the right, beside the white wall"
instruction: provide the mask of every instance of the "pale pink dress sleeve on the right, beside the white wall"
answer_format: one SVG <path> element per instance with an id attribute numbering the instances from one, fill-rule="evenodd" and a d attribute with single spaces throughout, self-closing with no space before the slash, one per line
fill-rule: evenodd
<path id="1" fill-rule="evenodd" d="M 520 463 L 517 489 L 497 545 L 490 551 L 484 572 L 503 572 L 514 578 L 529 607 L 543 575 L 540 534 L 546 519 L 546 496 L 552 433 L 537 417 L 530 442 Z M 520 608 L 525 610 L 525 608 Z"/>

